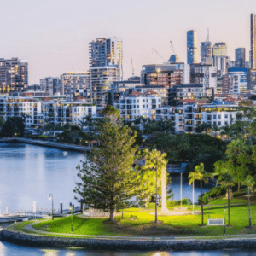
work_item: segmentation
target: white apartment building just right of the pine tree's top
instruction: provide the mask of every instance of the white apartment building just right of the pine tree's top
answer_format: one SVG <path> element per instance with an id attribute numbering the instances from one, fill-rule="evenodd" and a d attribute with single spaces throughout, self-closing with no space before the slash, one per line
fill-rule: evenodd
<path id="1" fill-rule="evenodd" d="M 114 108 L 119 109 L 120 116 L 125 121 L 134 121 L 137 117 L 155 119 L 155 109 L 161 107 L 161 97 L 154 91 L 145 93 L 137 91 L 129 96 L 123 96 L 119 102 L 114 102 Z"/>

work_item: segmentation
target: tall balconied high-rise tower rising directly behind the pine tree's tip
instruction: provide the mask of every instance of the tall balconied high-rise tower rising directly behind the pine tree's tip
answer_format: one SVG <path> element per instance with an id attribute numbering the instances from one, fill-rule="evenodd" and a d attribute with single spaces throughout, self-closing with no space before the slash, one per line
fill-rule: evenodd
<path id="1" fill-rule="evenodd" d="M 104 108 L 108 90 L 123 79 L 123 41 L 121 38 L 96 38 L 89 44 L 92 101 Z"/>

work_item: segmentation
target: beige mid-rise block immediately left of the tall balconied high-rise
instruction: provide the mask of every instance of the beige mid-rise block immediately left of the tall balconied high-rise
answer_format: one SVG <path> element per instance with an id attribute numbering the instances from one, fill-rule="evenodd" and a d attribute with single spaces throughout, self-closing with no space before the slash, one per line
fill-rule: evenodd
<path id="1" fill-rule="evenodd" d="M 90 73 L 61 74 L 61 94 L 71 99 L 84 96 L 90 101 Z"/>

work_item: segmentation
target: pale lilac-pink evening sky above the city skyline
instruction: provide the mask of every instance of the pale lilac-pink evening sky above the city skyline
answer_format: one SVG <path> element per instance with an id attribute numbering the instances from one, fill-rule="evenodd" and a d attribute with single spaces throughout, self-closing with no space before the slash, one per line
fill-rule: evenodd
<path id="1" fill-rule="evenodd" d="M 250 14 L 255 0 L 0 0 L 0 58 L 28 61 L 29 84 L 89 68 L 89 43 L 123 38 L 124 78 L 144 64 L 163 63 L 172 54 L 186 61 L 186 32 L 200 42 L 225 42 L 228 55 L 250 47 Z M 156 49 L 160 55 L 157 55 Z M 199 51 L 200 53 L 200 51 Z"/>

